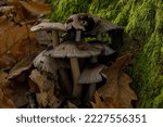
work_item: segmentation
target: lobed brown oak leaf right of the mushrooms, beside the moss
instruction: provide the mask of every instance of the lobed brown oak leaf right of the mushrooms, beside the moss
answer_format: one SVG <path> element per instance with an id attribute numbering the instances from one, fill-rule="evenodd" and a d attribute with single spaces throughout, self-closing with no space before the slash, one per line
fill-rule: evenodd
<path id="1" fill-rule="evenodd" d="M 102 71 L 108 79 L 105 85 L 98 89 L 98 93 L 104 100 L 110 98 L 105 103 L 111 107 L 131 107 L 131 100 L 137 100 L 136 93 L 129 87 L 131 78 L 122 71 L 129 60 L 130 54 L 125 54 Z"/>

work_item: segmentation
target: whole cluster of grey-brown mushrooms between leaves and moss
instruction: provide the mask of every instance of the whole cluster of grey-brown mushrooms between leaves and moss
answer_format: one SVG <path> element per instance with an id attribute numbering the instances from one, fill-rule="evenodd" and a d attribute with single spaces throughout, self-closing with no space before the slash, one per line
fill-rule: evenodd
<path id="1" fill-rule="evenodd" d="M 103 39 L 103 34 L 122 30 L 106 20 L 87 13 L 71 15 L 64 24 L 41 22 L 30 28 L 46 49 L 33 61 L 39 72 L 54 76 L 61 96 L 92 101 L 99 85 L 103 85 L 105 62 L 115 51 Z M 89 41 L 92 38 L 93 41 Z"/>

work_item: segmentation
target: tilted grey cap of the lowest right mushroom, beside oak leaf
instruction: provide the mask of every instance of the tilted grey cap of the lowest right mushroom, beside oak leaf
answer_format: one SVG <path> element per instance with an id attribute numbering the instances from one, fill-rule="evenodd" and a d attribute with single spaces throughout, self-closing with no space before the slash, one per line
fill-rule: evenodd
<path id="1" fill-rule="evenodd" d="M 95 84 L 102 81 L 102 74 L 100 72 L 105 67 L 103 64 L 96 64 L 87 66 L 80 75 L 78 84 Z"/>

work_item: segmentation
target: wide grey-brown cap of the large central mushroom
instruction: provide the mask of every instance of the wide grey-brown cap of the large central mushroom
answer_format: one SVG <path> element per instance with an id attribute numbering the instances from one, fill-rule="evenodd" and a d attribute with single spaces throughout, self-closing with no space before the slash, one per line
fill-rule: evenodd
<path id="1" fill-rule="evenodd" d="M 90 58 L 101 54 L 101 50 L 89 45 L 87 49 L 79 49 L 75 42 L 63 42 L 53 50 L 45 52 L 52 58 Z"/>

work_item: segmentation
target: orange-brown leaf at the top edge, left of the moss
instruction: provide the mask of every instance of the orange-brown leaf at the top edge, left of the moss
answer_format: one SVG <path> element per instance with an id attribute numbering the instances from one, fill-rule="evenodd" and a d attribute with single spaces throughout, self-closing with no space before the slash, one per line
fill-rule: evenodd
<path id="1" fill-rule="evenodd" d="M 48 14 L 52 11 L 51 5 L 46 3 L 35 1 L 20 1 L 20 2 L 26 10 L 36 15 Z"/>

